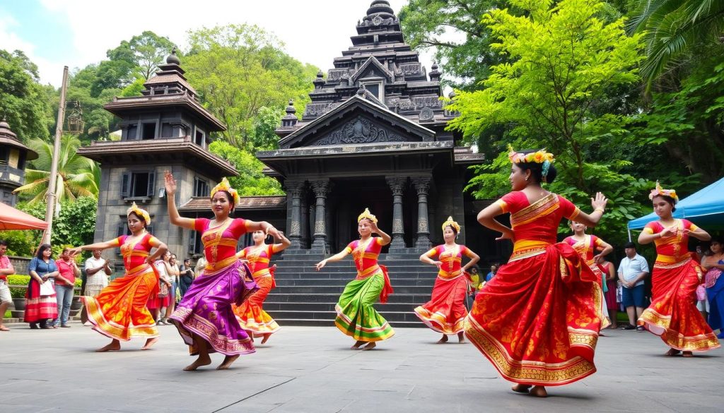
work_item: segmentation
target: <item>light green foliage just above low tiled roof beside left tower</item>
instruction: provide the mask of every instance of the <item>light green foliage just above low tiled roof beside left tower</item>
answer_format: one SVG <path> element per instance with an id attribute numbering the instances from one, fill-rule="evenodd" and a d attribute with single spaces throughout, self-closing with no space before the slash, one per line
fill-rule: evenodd
<path id="1" fill-rule="evenodd" d="M 282 185 L 262 173 L 264 163 L 253 154 L 223 140 L 211 142 L 209 150 L 232 163 L 239 171 L 239 176 L 229 176 L 230 184 L 239 191 L 239 195 L 284 195 Z"/>

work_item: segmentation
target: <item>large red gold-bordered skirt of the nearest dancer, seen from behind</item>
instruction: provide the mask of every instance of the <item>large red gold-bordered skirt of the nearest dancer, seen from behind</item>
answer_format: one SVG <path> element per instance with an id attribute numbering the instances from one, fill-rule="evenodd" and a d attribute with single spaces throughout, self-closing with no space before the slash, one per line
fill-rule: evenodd
<path id="1" fill-rule="evenodd" d="M 503 378 L 561 386 L 596 371 L 600 278 L 568 244 L 502 265 L 477 294 L 468 338 Z"/>

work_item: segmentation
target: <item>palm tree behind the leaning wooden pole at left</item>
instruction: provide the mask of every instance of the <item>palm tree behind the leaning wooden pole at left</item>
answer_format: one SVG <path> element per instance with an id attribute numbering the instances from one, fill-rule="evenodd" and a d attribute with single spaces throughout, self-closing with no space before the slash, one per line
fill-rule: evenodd
<path id="1" fill-rule="evenodd" d="M 31 149 L 38 153 L 38 159 L 31 161 L 33 169 L 25 169 L 25 185 L 17 188 L 22 197 L 30 198 L 29 203 L 43 202 L 50 182 L 53 145 L 43 140 L 31 140 Z M 80 140 L 72 135 L 63 135 L 58 159 L 58 200 L 75 200 L 77 197 L 98 197 L 100 169 L 98 165 L 76 153 Z"/>

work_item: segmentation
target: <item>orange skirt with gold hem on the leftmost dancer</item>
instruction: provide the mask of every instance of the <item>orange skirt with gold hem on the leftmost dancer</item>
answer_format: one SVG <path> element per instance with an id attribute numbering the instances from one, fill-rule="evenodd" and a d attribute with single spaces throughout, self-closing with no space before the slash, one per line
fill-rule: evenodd
<path id="1" fill-rule="evenodd" d="M 93 330 L 111 339 L 128 341 L 159 336 L 155 320 L 146 308 L 148 297 L 159 288 L 151 265 L 111 281 L 96 297 L 80 297 L 88 309 Z"/>

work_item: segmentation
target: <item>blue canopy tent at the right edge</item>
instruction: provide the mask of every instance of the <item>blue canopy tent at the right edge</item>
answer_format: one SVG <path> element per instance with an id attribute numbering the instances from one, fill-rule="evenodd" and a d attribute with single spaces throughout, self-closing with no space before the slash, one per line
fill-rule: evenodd
<path id="1" fill-rule="evenodd" d="M 724 229 L 724 178 L 680 200 L 673 216 L 686 218 L 704 229 Z M 632 229 L 642 229 L 657 219 L 655 213 L 649 213 L 628 221 L 628 239 L 631 240 Z"/>

